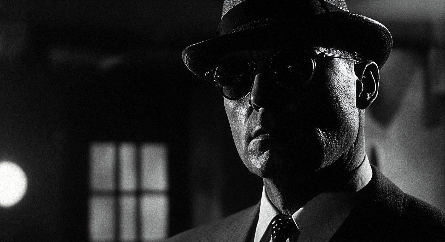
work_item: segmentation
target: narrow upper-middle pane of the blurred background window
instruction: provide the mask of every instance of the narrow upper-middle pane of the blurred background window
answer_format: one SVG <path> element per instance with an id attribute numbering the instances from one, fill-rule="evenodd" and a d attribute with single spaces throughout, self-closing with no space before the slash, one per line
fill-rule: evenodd
<path id="1" fill-rule="evenodd" d="M 119 146 L 119 188 L 124 191 L 136 190 L 136 145 L 122 143 Z"/>

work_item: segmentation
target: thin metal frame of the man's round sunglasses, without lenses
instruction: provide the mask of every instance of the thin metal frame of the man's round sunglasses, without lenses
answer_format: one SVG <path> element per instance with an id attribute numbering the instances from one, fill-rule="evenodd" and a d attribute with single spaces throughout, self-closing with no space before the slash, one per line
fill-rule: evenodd
<path id="1" fill-rule="evenodd" d="M 360 61 L 357 61 L 357 60 L 355 60 L 355 59 L 353 59 L 353 58 L 351 58 L 351 57 L 346 57 L 346 56 L 341 56 L 341 55 L 337 55 L 337 54 L 331 54 L 331 53 L 321 52 L 320 50 L 315 49 L 315 48 L 313 48 L 313 49 L 314 49 L 315 51 L 319 52 L 319 53 L 317 53 L 317 54 L 311 54 L 311 53 L 309 53 L 306 49 L 300 49 L 301 51 L 304 51 L 305 53 L 307 53 L 307 56 L 309 56 L 310 59 L 311 59 L 311 62 L 312 62 L 312 74 L 311 74 L 310 78 L 307 80 L 307 82 L 305 82 L 303 85 L 298 86 L 298 87 L 287 87 L 287 86 L 283 86 L 283 85 L 277 80 L 278 78 L 275 76 L 275 74 L 273 74 L 273 71 L 272 71 L 272 69 L 271 69 L 271 65 L 272 65 L 272 61 L 273 61 L 274 57 L 275 57 L 277 54 L 279 54 L 279 53 L 281 53 L 281 52 L 283 52 L 283 51 L 289 51 L 288 49 L 281 49 L 281 50 L 279 50 L 277 53 L 275 53 L 272 57 L 261 57 L 261 58 L 258 58 L 258 59 L 256 59 L 256 60 L 252 61 L 252 62 L 248 62 L 248 61 L 246 61 L 246 60 L 244 60 L 244 59 L 242 59 L 242 58 L 239 58 L 239 57 L 231 57 L 231 58 L 227 58 L 227 59 L 225 59 L 225 60 L 232 59 L 232 58 L 233 58 L 233 59 L 237 59 L 237 60 L 240 60 L 240 61 L 242 61 L 242 62 L 246 62 L 247 65 L 251 67 L 251 70 L 252 70 L 252 73 L 253 73 L 252 76 L 251 76 L 251 88 L 250 88 L 250 90 L 249 90 L 245 95 L 243 95 L 243 96 L 240 97 L 240 98 L 231 98 L 231 97 L 228 97 L 228 96 L 225 95 L 225 94 L 223 93 L 223 91 L 220 90 L 220 88 L 218 87 L 218 86 L 222 85 L 222 84 L 216 82 L 216 70 L 217 70 L 218 67 L 220 66 L 219 64 L 216 65 L 212 70 L 206 72 L 206 74 L 204 74 L 204 76 L 205 76 L 206 78 L 209 78 L 210 76 L 212 76 L 212 77 L 209 78 L 209 79 L 213 79 L 213 82 L 215 83 L 215 85 L 216 85 L 216 87 L 217 87 L 217 89 L 218 89 L 218 92 L 219 92 L 220 94 L 222 94 L 223 97 L 225 97 L 225 98 L 227 98 L 227 99 L 229 99 L 229 100 L 241 100 L 241 99 L 247 97 L 247 96 L 251 93 L 251 91 L 252 91 L 252 87 L 253 87 L 253 84 L 254 84 L 254 81 L 255 81 L 255 73 L 256 73 L 256 69 L 257 69 L 256 62 L 258 62 L 259 60 L 268 59 L 268 62 L 269 62 L 269 71 L 270 71 L 271 76 L 272 76 L 272 78 L 274 79 L 275 83 L 277 83 L 278 85 L 280 85 L 280 86 L 282 86 L 282 87 L 284 87 L 284 88 L 286 88 L 286 89 L 291 89 L 291 90 L 295 90 L 295 89 L 301 88 L 301 87 L 305 86 L 307 83 L 309 83 L 309 82 L 312 80 L 312 77 L 314 76 L 314 73 L 315 73 L 315 70 L 316 70 L 316 58 L 317 58 L 317 57 L 333 57 L 333 58 L 341 58 L 341 59 L 345 59 L 345 60 L 353 61 L 353 62 L 356 62 L 356 63 L 360 63 Z"/>

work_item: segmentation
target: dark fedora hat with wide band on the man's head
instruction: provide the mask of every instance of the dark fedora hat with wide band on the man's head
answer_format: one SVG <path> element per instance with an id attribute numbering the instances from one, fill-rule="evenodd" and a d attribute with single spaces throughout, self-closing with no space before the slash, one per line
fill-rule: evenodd
<path id="1" fill-rule="evenodd" d="M 230 51 L 304 45 L 356 52 L 381 68 L 392 37 L 379 22 L 349 12 L 344 0 L 224 0 L 217 36 L 188 46 L 182 59 L 206 79 Z"/>

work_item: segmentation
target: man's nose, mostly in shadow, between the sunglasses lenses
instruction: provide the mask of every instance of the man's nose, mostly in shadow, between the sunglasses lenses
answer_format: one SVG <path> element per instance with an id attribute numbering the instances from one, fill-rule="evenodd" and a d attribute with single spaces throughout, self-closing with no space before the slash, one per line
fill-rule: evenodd
<path id="1" fill-rule="evenodd" d="M 272 106 L 277 101 L 277 85 L 269 71 L 268 61 L 259 61 L 250 94 L 250 103 L 255 111 Z"/>

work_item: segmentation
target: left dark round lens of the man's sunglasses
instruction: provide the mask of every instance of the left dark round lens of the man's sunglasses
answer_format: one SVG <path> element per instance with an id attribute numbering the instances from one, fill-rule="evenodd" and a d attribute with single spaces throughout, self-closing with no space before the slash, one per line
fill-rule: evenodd
<path id="1" fill-rule="evenodd" d="M 250 92 L 254 74 L 249 63 L 238 58 L 226 59 L 216 68 L 216 87 L 226 98 L 241 99 Z"/>

